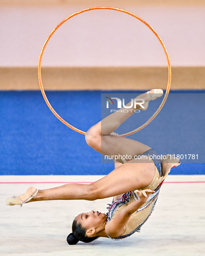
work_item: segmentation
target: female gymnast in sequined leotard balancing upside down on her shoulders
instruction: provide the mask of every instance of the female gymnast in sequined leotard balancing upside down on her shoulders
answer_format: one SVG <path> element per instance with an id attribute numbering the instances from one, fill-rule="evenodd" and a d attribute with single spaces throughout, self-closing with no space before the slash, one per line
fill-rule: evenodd
<path id="1" fill-rule="evenodd" d="M 171 155 L 160 158 L 151 147 L 117 136 L 113 131 L 135 109 L 146 110 L 149 101 L 162 95 L 161 89 L 154 89 L 137 96 L 136 99 L 145 101 L 143 108 L 136 105 L 130 109 L 133 111 L 128 112 L 123 112 L 126 108 L 122 108 L 122 112 L 112 113 L 85 135 L 87 144 L 101 154 L 109 157 L 128 155 L 130 160 L 118 159 L 112 172 L 92 184 L 66 184 L 45 190 L 30 187 L 25 194 L 8 198 L 6 204 L 22 206 L 23 203 L 41 200 L 96 200 L 113 196 L 107 214 L 90 211 L 75 218 L 72 233 L 67 237 L 68 244 L 74 245 L 78 241 L 87 243 L 98 237 L 119 240 L 139 231 L 153 211 L 164 179 L 173 166 L 179 165 L 179 160 Z"/>

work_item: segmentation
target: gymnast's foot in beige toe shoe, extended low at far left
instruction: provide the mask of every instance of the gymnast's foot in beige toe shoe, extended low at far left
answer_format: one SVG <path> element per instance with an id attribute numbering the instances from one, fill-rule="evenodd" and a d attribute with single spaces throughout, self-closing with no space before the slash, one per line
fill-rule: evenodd
<path id="1" fill-rule="evenodd" d="M 22 204 L 28 203 L 37 194 L 38 191 L 38 189 L 30 187 L 23 195 L 7 198 L 5 204 L 22 206 Z"/>

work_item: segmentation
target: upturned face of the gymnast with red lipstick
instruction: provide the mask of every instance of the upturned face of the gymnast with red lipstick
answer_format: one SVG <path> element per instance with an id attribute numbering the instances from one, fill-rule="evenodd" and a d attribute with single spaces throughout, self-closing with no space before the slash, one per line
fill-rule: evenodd
<path id="1" fill-rule="evenodd" d="M 75 220 L 77 220 L 82 227 L 86 227 L 88 230 L 95 229 L 95 232 L 97 232 L 104 228 L 107 216 L 104 213 L 90 211 L 88 213 L 80 213 Z"/>

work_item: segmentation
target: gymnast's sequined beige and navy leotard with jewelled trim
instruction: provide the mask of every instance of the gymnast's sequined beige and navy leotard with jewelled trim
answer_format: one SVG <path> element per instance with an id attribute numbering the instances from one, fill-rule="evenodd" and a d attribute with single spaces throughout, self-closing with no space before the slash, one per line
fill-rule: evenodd
<path id="1" fill-rule="evenodd" d="M 145 152 L 144 154 L 146 154 Z M 156 152 L 155 152 L 156 153 Z M 148 154 L 147 154 L 148 155 Z M 123 238 L 126 238 L 128 236 L 131 236 L 131 234 L 135 232 L 139 232 L 140 228 L 142 225 L 147 221 L 148 217 L 151 215 L 152 211 L 154 210 L 154 206 L 156 204 L 156 200 L 159 196 L 159 191 L 160 188 L 164 182 L 164 179 L 168 176 L 168 173 L 170 172 L 170 169 L 174 166 L 179 165 L 178 159 L 170 159 L 170 155 L 164 156 L 165 160 L 160 159 L 160 164 L 157 165 L 157 162 L 155 161 L 155 175 L 154 178 L 151 182 L 150 185 L 147 187 L 138 189 L 139 191 L 144 190 L 144 189 L 152 189 L 155 192 L 150 195 L 150 197 L 147 199 L 146 203 L 140 207 L 135 213 L 133 213 L 126 224 L 126 230 L 125 232 L 119 236 L 119 237 L 110 237 L 109 238 L 113 240 L 121 240 Z M 161 168 L 161 162 L 162 163 L 167 163 L 166 167 L 162 170 Z M 157 168 L 158 167 L 158 168 Z M 160 175 L 161 174 L 161 175 Z M 122 195 L 122 197 L 115 202 L 113 202 L 111 205 L 108 207 L 108 221 L 107 223 L 114 218 L 120 211 L 125 209 L 127 205 L 130 203 L 138 200 L 137 194 L 133 191 L 129 191 L 125 194 Z"/>

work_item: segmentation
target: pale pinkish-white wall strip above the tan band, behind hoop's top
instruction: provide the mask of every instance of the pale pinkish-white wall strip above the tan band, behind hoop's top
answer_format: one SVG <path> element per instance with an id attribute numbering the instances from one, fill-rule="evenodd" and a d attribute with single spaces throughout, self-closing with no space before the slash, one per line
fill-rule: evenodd
<path id="1" fill-rule="evenodd" d="M 0 66 L 37 66 L 52 29 L 67 16 L 87 7 L 0 5 Z M 155 29 L 168 50 L 172 66 L 205 66 L 205 4 L 123 8 Z M 166 58 L 154 34 L 137 19 L 118 11 L 93 10 L 71 18 L 54 33 L 42 64 L 166 66 Z"/>

